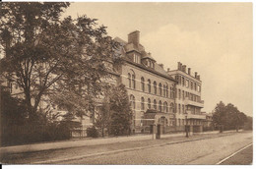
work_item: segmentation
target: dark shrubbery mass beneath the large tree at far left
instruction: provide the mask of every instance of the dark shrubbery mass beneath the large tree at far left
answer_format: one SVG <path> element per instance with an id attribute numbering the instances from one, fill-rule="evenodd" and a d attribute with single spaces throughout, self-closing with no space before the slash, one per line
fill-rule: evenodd
<path id="1" fill-rule="evenodd" d="M 30 123 L 23 99 L 12 97 L 9 88 L 2 85 L 0 96 L 1 145 L 57 141 L 70 138 L 70 128 L 68 127 L 71 123 L 59 123 L 54 118 L 45 118 L 45 114 L 40 111 L 37 112 L 37 120 Z"/>

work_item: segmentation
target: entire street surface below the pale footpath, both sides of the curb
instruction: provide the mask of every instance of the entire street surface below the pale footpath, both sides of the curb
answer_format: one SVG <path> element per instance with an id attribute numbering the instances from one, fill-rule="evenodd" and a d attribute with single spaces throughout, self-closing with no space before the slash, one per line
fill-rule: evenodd
<path id="1" fill-rule="evenodd" d="M 251 132 L 127 141 L 37 152 L 8 154 L 4 163 L 38 164 L 217 164 L 252 143 Z M 247 150 L 248 151 L 248 150 Z M 232 157 L 231 164 L 252 163 L 252 152 Z M 241 156 L 244 157 L 241 157 Z M 236 155 L 236 156 L 237 156 Z M 221 164 L 225 164 L 224 162 Z"/>

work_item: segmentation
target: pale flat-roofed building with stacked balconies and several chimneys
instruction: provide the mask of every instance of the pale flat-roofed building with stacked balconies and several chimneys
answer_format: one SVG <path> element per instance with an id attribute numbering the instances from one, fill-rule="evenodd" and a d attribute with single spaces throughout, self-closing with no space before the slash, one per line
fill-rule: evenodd
<path id="1" fill-rule="evenodd" d="M 201 112 L 204 101 L 201 99 L 202 82 L 197 72 L 193 76 L 191 68 L 178 62 L 177 70 L 168 70 L 168 75 L 177 81 L 175 86 L 176 130 L 184 131 L 185 125 L 190 132 L 202 132 L 206 115 Z"/>

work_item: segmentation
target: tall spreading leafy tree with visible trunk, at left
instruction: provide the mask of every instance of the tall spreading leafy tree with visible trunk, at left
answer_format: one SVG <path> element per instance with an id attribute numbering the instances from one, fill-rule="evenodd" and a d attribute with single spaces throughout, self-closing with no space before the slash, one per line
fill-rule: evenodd
<path id="1" fill-rule="evenodd" d="M 41 99 L 69 112 L 87 112 L 106 75 L 116 43 L 104 26 L 86 16 L 60 20 L 69 3 L 1 3 L 1 76 L 25 93 L 29 119 L 36 119 Z"/>

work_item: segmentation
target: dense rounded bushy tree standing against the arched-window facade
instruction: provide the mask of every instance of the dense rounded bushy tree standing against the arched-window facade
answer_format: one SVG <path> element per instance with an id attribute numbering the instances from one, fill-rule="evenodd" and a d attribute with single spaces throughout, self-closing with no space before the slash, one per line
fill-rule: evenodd
<path id="1" fill-rule="evenodd" d="M 108 135 L 128 135 L 132 113 L 125 85 L 109 86 L 104 95 L 102 105 L 96 113 L 96 128 L 102 133 L 102 137 L 104 131 Z"/>

